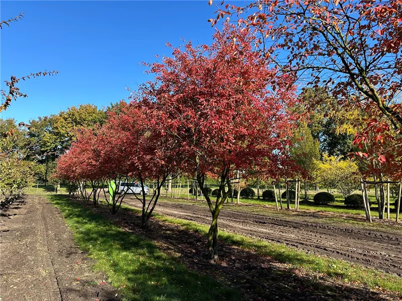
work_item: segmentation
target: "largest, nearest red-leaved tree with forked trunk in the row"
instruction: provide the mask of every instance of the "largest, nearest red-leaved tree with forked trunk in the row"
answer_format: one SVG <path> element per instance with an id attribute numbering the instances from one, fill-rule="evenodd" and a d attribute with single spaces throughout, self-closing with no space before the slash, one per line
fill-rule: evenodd
<path id="1" fill-rule="evenodd" d="M 150 65 L 155 80 L 142 89 L 153 103 L 153 126 L 174 144 L 181 168 L 195 175 L 212 215 L 208 251 L 218 259 L 218 217 L 232 192 L 234 171 L 275 174 L 291 143 L 296 101 L 288 76 L 278 76 L 254 51 L 252 37 L 226 25 L 211 46 L 173 48 Z M 215 200 L 207 175 L 219 179 Z M 244 175 L 247 176 L 247 175 Z"/>

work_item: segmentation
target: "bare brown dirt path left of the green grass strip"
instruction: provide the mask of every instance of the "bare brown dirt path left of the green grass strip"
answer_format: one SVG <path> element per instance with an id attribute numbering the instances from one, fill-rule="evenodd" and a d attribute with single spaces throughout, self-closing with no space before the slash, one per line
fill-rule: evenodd
<path id="1" fill-rule="evenodd" d="M 0 211 L 0 300 L 118 300 L 91 264 L 46 198 L 27 196 Z"/>

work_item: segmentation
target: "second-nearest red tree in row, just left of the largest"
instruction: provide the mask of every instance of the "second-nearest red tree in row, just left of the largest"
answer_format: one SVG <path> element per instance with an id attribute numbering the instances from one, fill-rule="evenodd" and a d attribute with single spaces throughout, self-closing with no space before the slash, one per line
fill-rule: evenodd
<path id="1" fill-rule="evenodd" d="M 102 127 L 102 167 L 111 179 L 131 178 L 141 183 L 142 193 L 135 197 L 142 204 L 141 225 L 146 228 L 161 189 L 166 180 L 175 174 L 176 163 L 180 160 L 176 144 L 168 139 L 163 128 L 154 126 L 159 111 L 149 99 L 148 88 L 144 86 L 143 89 L 135 93 L 130 104 L 122 101 L 119 110 L 109 112 L 108 120 Z M 150 196 L 145 193 L 146 181 L 155 183 Z M 115 206 L 117 210 L 120 207 L 124 195 L 118 197 L 116 205 L 112 201 L 112 208 Z"/>

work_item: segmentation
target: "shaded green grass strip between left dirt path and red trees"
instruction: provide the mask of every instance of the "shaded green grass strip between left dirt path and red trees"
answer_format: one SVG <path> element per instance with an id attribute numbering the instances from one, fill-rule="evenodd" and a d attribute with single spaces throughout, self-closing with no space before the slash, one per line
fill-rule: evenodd
<path id="1" fill-rule="evenodd" d="M 141 236 L 116 227 L 67 197 L 47 196 L 63 214 L 79 248 L 96 260 L 123 300 L 241 300 L 241 294 L 210 276 L 187 270 Z"/>

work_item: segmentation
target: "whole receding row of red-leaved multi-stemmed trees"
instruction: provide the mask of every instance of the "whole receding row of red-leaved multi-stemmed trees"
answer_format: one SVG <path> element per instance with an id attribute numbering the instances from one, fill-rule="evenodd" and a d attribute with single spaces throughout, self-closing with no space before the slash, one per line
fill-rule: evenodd
<path id="1" fill-rule="evenodd" d="M 170 175 L 191 176 L 211 211 L 208 251 L 216 260 L 218 218 L 236 171 L 273 179 L 285 166 L 293 169 L 295 86 L 254 51 L 252 35 L 229 25 L 211 46 L 189 42 L 148 67 L 154 80 L 109 112 L 102 127 L 78 135 L 58 161 L 58 177 L 90 183 L 94 202 L 99 183 L 153 181 L 153 194 L 139 198 L 146 227 Z M 206 191 L 207 176 L 219 183 L 215 198 Z M 124 193 L 109 197 L 115 213 Z"/>

